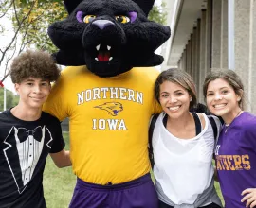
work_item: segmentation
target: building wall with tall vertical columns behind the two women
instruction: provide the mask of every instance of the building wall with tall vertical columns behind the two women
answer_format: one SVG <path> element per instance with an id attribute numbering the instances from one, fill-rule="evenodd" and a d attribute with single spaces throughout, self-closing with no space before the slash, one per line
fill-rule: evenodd
<path id="1" fill-rule="evenodd" d="M 256 2 L 232 1 L 230 8 L 229 0 L 207 0 L 207 9 L 202 9 L 177 66 L 192 75 L 200 102 L 204 102 L 202 85 L 206 74 L 233 66 L 245 85 L 247 110 L 256 113 Z M 231 19 L 229 9 L 234 13 Z M 229 20 L 233 23 L 231 39 Z"/>

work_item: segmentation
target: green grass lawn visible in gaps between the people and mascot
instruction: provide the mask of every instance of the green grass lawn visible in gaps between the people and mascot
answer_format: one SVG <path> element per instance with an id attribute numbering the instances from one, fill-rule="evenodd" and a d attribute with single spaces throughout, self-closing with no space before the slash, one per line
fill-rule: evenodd
<path id="1" fill-rule="evenodd" d="M 65 149 L 69 149 L 68 133 L 64 132 L 64 140 Z M 73 174 L 71 167 L 60 169 L 54 165 L 50 157 L 47 158 L 44 173 L 44 192 L 47 208 L 67 208 L 72 198 L 75 184 L 76 176 Z M 215 182 L 215 187 L 222 199 L 218 182 Z"/>

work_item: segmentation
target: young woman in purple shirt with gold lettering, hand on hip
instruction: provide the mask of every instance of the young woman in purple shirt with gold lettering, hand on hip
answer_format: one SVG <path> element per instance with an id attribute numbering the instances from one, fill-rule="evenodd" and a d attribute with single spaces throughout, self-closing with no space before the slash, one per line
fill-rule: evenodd
<path id="1" fill-rule="evenodd" d="M 225 122 L 215 147 L 225 207 L 256 207 L 256 116 L 243 111 L 243 83 L 232 70 L 212 70 L 204 96 L 210 112 Z"/>

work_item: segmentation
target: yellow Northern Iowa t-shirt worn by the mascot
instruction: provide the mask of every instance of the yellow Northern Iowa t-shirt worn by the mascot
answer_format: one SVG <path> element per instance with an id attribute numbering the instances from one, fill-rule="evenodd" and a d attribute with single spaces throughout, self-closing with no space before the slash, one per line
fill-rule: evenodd
<path id="1" fill-rule="evenodd" d="M 100 78 L 85 66 L 64 69 L 44 111 L 61 121 L 69 117 L 70 156 L 80 179 L 114 184 L 150 171 L 148 126 L 156 112 L 157 75 L 150 67 L 112 78 Z"/>

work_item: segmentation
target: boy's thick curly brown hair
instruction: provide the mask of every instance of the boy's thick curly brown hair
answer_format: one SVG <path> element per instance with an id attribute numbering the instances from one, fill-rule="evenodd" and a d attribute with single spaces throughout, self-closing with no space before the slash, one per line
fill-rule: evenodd
<path id="1" fill-rule="evenodd" d="M 10 78 L 13 83 L 21 83 L 27 78 L 42 78 L 56 81 L 60 69 L 51 56 L 43 51 L 27 50 L 16 57 L 10 65 Z"/>

